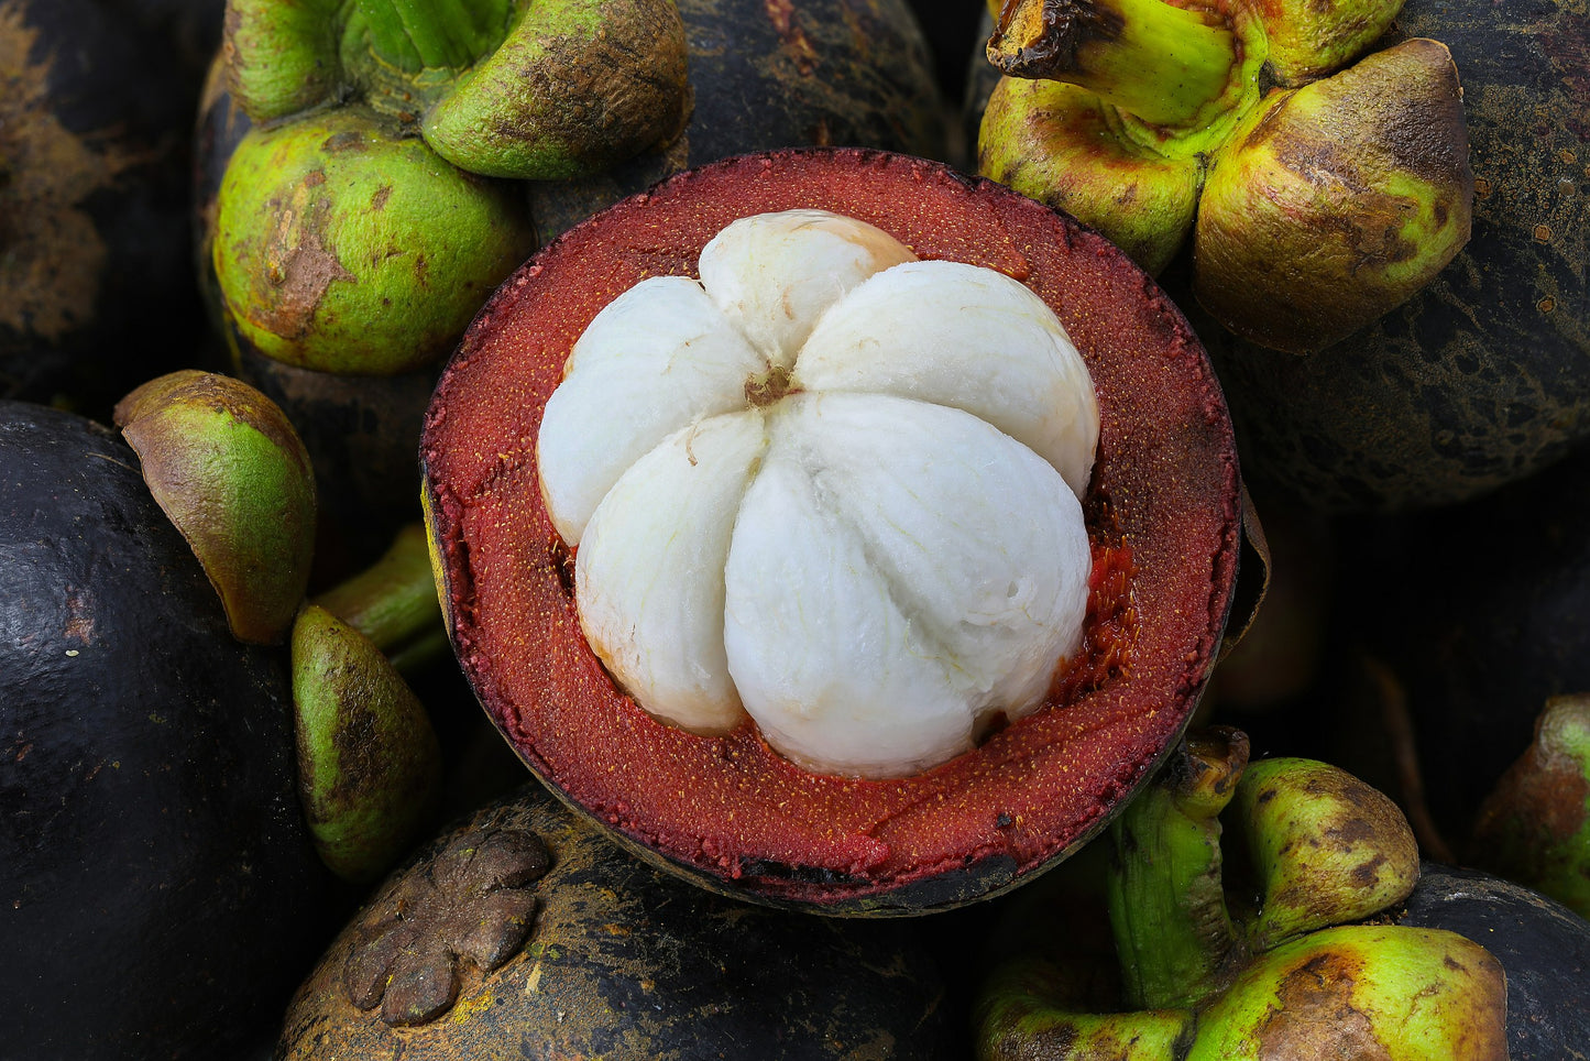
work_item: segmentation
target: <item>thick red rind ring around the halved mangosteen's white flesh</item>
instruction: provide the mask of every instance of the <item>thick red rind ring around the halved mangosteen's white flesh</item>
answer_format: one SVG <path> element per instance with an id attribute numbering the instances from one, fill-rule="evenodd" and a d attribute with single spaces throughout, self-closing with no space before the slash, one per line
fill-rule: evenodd
<path id="1" fill-rule="evenodd" d="M 979 275 L 995 286 L 1019 282 L 1053 312 L 1091 377 L 1097 441 L 1091 474 L 1083 464 L 1073 487 L 1088 566 L 1080 628 L 1059 646 L 1064 659 L 1045 663 L 1035 703 L 1011 705 L 1003 719 L 1000 705 L 981 703 L 987 732 L 973 733 L 968 722 L 970 746 L 951 741 L 938 752 L 948 759 L 903 767 L 905 776 L 878 776 L 898 773 L 898 765 L 873 771 L 797 751 L 795 759 L 814 768 L 798 765 L 746 717 L 695 725 L 704 732 L 653 717 L 626 690 L 633 674 L 615 676 L 612 654 L 604 662 L 582 630 L 580 547 L 560 536 L 544 493 L 544 412 L 593 318 L 642 280 L 698 280 L 703 248 L 736 220 L 790 210 L 871 226 L 906 258 L 976 266 L 991 270 Z M 779 258 L 773 269 L 787 264 Z M 927 312 L 954 294 L 922 297 Z M 673 328 L 655 320 L 657 331 Z M 999 328 L 1003 320 L 995 312 L 986 323 Z M 881 337 L 890 331 L 905 334 L 882 325 Z M 951 377 L 949 391 L 984 388 L 994 364 L 984 345 Z M 770 394 L 754 385 L 758 380 L 778 383 L 773 390 L 784 398 L 812 396 L 776 374 L 747 375 L 746 407 L 768 420 Z M 854 394 L 819 398 L 843 406 Z M 609 410 L 606 423 L 593 417 L 590 450 L 599 452 L 628 415 Z M 865 433 L 867 415 L 857 422 Z M 921 457 L 924 477 L 965 453 L 930 447 Z M 867 150 L 728 159 L 566 232 L 504 283 L 471 326 L 432 398 L 421 460 L 455 649 L 525 764 L 653 862 L 717 891 L 825 913 L 954 907 L 1000 892 L 1091 838 L 1181 735 L 1221 644 L 1242 541 L 1242 487 L 1224 399 L 1197 339 L 1154 283 L 1064 215 L 935 162 Z M 752 460 L 749 477 L 773 463 Z M 1059 479 L 1054 469 L 1048 474 Z M 887 485 L 887 476 L 879 482 Z M 1013 488 L 968 503 L 962 520 L 973 542 L 989 536 L 991 552 L 1002 546 L 999 523 L 1037 509 L 1005 490 Z M 766 534 L 778 534 L 778 520 L 768 527 Z M 968 557 L 976 557 L 975 546 L 943 563 Z M 1006 560 L 1026 577 L 1048 558 Z M 800 565 L 782 566 L 779 577 L 800 590 Z M 760 601 L 763 590 L 752 584 L 749 597 Z M 757 625 L 757 616 L 741 619 L 743 627 Z M 822 624 L 852 620 L 851 609 L 830 608 Z M 770 612 L 766 622 L 782 619 Z M 903 625 L 913 622 L 929 620 L 908 614 Z M 825 639 L 876 635 L 876 627 L 859 624 Z M 793 638 L 789 649 L 798 660 L 809 646 Z M 865 652 L 849 659 L 846 667 L 855 670 Z M 895 706 L 903 727 L 917 706 L 914 697 Z M 857 773 L 871 776 L 851 776 Z"/>

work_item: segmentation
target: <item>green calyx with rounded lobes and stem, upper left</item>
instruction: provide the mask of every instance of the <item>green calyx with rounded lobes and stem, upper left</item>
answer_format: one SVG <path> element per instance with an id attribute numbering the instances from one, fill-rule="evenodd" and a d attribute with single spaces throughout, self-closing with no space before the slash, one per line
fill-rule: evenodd
<path id="1" fill-rule="evenodd" d="M 216 196 L 235 339 L 286 364 L 437 361 L 536 247 L 510 181 L 601 172 L 679 135 L 674 0 L 229 0 L 253 127 Z"/>

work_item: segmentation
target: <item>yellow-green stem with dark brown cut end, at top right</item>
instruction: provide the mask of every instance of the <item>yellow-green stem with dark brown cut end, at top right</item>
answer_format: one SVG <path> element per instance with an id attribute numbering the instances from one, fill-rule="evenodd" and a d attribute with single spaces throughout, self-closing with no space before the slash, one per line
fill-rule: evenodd
<path id="1" fill-rule="evenodd" d="M 1242 68 L 1226 17 L 1164 0 L 1005 0 L 987 57 L 1008 76 L 1067 81 L 1169 127 L 1212 121 Z"/>

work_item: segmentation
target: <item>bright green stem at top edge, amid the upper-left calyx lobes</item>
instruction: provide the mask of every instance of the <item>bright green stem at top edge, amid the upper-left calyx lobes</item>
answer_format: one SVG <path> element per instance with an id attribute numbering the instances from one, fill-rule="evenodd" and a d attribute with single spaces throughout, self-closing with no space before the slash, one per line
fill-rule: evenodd
<path id="1" fill-rule="evenodd" d="M 463 70 L 501 38 L 509 0 L 356 0 L 370 49 L 418 73 Z"/>

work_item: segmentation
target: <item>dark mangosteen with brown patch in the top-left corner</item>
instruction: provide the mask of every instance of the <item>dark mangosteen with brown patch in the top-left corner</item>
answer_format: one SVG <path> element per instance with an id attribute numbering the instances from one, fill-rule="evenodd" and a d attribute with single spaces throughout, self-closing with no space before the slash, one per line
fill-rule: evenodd
<path id="1" fill-rule="evenodd" d="M 189 245 L 211 0 L 11 0 L 0 13 L 0 398 L 97 418 L 205 337 Z"/>

